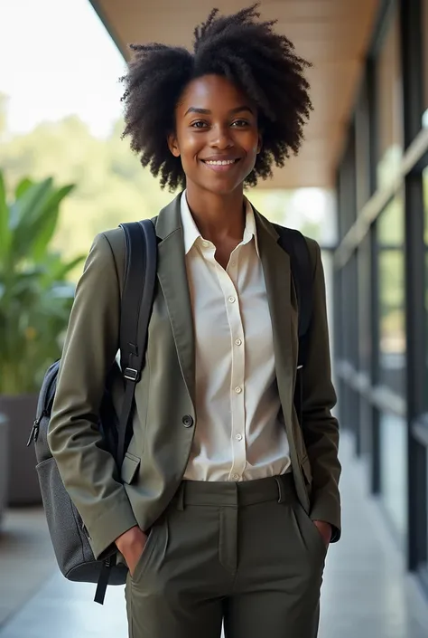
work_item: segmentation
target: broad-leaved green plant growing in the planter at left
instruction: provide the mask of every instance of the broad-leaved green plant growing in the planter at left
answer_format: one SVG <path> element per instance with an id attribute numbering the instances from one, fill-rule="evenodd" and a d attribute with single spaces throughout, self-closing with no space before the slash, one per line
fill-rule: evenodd
<path id="1" fill-rule="evenodd" d="M 72 189 L 24 178 L 9 202 L 0 171 L 0 394 L 37 391 L 60 357 L 74 296 L 67 277 L 83 256 L 64 262 L 51 240 Z"/>

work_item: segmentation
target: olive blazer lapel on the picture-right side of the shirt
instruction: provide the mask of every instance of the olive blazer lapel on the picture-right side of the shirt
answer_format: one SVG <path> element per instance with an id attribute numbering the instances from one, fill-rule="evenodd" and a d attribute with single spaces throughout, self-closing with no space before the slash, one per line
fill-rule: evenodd
<path id="1" fill-rule="evenodd" d="M 293 337 L 290 257 L 278 244 L 278 233 L 256 213 L 257 241 L 265 274 L 267 300 L 274 333 L 274 360 L 285 425 L 291 423 L 297 344 Z"/>

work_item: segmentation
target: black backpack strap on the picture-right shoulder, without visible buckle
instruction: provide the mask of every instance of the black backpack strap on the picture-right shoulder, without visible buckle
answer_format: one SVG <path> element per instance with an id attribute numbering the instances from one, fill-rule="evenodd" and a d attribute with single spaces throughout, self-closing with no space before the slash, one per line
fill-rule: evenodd
<path id="1" fill-rule="evenodd" d="M 298 366 L 306 363 L 307 334 L 312 318 L 312 262 L 308 244 L 302 233 L 293 228 L 284 228 L 274 224 L 279 234 L 279 243 L 290 255 L 294 288 L 299 312 L 299 361 Z"/>

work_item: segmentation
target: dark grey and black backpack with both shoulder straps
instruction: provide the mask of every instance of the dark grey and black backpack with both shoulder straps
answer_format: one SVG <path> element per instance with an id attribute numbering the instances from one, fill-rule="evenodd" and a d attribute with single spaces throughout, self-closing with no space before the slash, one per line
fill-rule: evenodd
<path id="1" fill-rule="evenodd" d="M 114 364 L 111 375 L 123 376 L 125 399 L 122 413 L 116 416 L 109 376 L 100 407 L 99 427 L 107 450 L 120 469 L 127 444 L 132 436 L 132 412 L 135 384 L 144 367 L 147 330 L 154 298 L 157 242 L 150 220 L 120 224 L 126 237 L 126 269 L 121 300 L 120 368 Z M 280 244 L 290 255 L 293 282 L 299 305 L 299 363 L 294 405 L 302 424 L 302 367 L 306 357 L 307 332 L 312 314 L 312 267 L 306 240 L 302 233 L 275 225 Z M 144 273 L 144 287 L 141 273 Z M 135 302 L 136 300 L 136 302 Z M 60 361 L 48 369 L 39 395 L 36 420 L 28 445 L 35 444 L 37 472 L 42 491 L 51 541 L 60 571 L 69 580 L 98 583 L 95 601 L 104 602 L 107 585 L 123 585 L 127 567 L 116 564 L 116 552 L 104 560 L 96 560 L 88 541 L 88 533 L 79 512 L 60 478 L 57 464 L 49 449 L 47 434 L 56 390 Z M 123 370 L 123 373 L 121 372 Z"/>

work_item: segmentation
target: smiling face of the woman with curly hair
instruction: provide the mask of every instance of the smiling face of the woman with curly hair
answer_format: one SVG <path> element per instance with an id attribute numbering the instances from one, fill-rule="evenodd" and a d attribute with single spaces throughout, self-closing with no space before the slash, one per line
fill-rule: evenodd
<path id="1" fill-rule="evenodd" d="M 188 188 L 227 195 L 243 187 L 261 139 L 256 109 L 241 90 L 219 75 L 191 81 L 177 105 L 175 126 L 168 143 L 181 157 Z"/>

